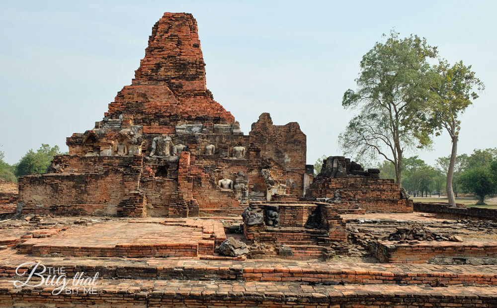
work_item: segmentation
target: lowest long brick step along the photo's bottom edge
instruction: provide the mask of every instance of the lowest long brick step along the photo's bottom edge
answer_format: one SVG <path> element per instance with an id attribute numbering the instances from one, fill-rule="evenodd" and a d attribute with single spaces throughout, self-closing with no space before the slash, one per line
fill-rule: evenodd
<path id="1" fill-rule="evenodd" d="M 69 283 L 72 283 L 70 280 Z M 18 290 L 0 280 L 4 305 L 76 307 L 495 307 L 495 287 L 300 285 L 274 282 L 98 280 L 91 295 L 51 295 L 55 287 Z"/>

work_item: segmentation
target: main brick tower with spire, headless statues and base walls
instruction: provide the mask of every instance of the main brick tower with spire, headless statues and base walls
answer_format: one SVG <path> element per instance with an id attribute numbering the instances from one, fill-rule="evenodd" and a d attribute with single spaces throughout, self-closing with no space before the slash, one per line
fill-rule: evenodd
<path id="1" fill-rule="evenodd" d="M 306 136 L 268 113 L 240 131 L 206 89 L 197 23 L 165 13 L 145 57 L 69 155 L 19 181 L 24 211 L 122 216 L 239 214 L 249 200 L 303 196 Z M 291 197 L 294 196 L 294 197 Z"/>

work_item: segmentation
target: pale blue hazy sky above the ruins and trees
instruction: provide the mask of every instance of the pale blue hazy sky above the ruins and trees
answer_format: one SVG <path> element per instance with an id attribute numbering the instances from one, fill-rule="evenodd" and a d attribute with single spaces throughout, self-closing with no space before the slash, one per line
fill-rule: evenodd
<path id="1" fill-rule="evenodd" d="M 392 27 L 472 64 L 487 89 L 464 114 L 459 153 L 497 146 L 495 1 L 2 1 L 0 150 L 16 163 L 41 143 L 93 128 L 145 54 L 165 11 L 197 19 L 207 87 L 248 134 L 262 112 L 300 123 L 307 162 L 337 155 L 363 54 Z M 420 157 L 450 153 L 446 134 Z M 409 155 L 409 154 L 408 154 Z"/>

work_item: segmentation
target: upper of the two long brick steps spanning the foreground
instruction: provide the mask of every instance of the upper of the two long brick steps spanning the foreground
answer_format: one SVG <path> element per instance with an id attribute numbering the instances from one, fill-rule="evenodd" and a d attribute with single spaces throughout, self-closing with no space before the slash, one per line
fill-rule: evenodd
<path id="1" fill-rule="evenodd" d="M 102 279 L 182 279 L 214 281 L 271 281 L 303 284 L 434 284 L 497 285 L 496 265 L 345 264 L 311 261 L 201 260 L 198 258 L 33 257 L 0 251 L 0 277 L 15 277 L 25 262 L 65 267 L 72 278 L 84 271 Z"/>

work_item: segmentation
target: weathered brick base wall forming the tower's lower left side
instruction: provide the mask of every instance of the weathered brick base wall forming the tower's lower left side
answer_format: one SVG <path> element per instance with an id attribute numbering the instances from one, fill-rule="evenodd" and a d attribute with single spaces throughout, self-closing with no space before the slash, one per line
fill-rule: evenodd
<path id="1" fill-rule="evenodd" d="M 116 207 L 139 188 L 142 160 L 141 156 L 59 156 L 54 161 L 67 164 L 64 171 L 68 172 L 20 177 L 19 201 L 25 203 L 25 210 L 71 205 Z M 109 208 L 109 213 L 114 211 Z"/>

